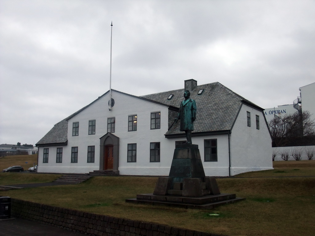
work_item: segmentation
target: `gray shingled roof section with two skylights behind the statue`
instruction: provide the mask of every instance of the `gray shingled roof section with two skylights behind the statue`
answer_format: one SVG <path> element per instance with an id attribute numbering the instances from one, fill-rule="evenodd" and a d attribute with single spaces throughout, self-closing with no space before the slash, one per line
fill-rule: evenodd
<path id="1" fill-rule="evenodd" d="M 204 91 L 201 95 L 198 95 L 197 93 L 200 89 L 204 89 Z M 263 110 L 219 82 L 198 85 L 190 93 L 190 97 L 196 101 L 197 105 L 193 133 L 231 130 L 242 102 Z M 174 94 L 174 96 L 168 100 L 167 98 L 170 94 Z M 184 99 L 184 89 L 149 94 L 141 97 L 178 108 Z M 182 134 L 183 132 L 179 130 L 179 123 L 166 132 L 166 135 Z"/>

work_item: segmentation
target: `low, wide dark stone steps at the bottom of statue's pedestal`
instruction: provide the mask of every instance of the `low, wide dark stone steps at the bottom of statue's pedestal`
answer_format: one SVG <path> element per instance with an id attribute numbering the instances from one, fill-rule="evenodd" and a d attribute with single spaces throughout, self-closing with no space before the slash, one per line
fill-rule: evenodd
<path id="1" fill-rule="evenodd" d="M 126 199 L 129 203 L 174 206 L 189 209 L 213 209 L 214 207 L 245 200 L 236 194 L 217 194 L 202 197 L 183 197 L 176 195 L 137 194 L 137 198 Z"/>

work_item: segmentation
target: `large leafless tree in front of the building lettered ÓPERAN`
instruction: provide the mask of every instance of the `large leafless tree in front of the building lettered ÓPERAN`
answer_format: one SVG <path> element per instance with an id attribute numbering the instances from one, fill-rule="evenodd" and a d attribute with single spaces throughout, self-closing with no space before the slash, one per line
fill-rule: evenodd
<path id="1" fill-rule="evenodd" d="M 268 125 L 275 147 L 284 147 L 298 137 L 315 135 L 315 122 L 309 111 L 276 116 Z"/>

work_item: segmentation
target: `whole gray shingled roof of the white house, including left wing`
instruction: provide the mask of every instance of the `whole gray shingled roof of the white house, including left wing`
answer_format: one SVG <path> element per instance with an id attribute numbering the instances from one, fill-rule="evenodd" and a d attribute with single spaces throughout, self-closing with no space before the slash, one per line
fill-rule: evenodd
<path id="1" fill-rule="evenodd" d="M 204 89 L 204 91 L 201 95 L 198 95 L 197 93 L 200 89 Z M 106 95 L 108 92 L 109 91 L 104 93 L 102 96 L 97 98 L 89 105 L 95 103 L 98 99 Z M 122 93 L 119 91 L 116 92 Z M 191 92 L 190 97 L 196 101 L 197 105 L 197 115 L 196 121 L 194 122 L 193 133 L 231 130 L 242 102 L 249 104 L 259 110 L 263 110 L 257 105 L 239 96 L 237 93 L 234 93 L 233 91 L 223 86 L 219 82 L 198 85 L 190 92 Z M 127 93 L 123 94 L 135 98 L 156 102 L 163 105 L 165 104 L 167 106 L 173 106 L 175 108 L 176 107 L 179 108 L 181 101 L 184 99 L 183 98 L 184 89 L 172 90 L 162 93 L 154 93 L 140 97 L 130 95 Z M 168 100 L 167 98 L 169 97 L 170 94 L 174 94 L 174 96 L 172 99 Z M 68 120 L 74 115 L 80 113 L 89 105 L 83 107 L 82 109 L 73 113 L 66 119 L 55 124 L 54 127 L 41 140 L 39 140 L 36 143 L 36 145 L 66 143 L 68 133 Z M 171 130 L 166 132 L 166 135 L 176 135 L 182 133 L 183 132 L 179 130 L 178 122 L 176 125 L 172 127 Z"/>

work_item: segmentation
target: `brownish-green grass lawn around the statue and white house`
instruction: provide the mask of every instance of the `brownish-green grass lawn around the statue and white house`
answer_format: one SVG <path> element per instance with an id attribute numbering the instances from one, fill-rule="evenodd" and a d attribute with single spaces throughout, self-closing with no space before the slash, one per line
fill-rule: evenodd
<path id="1" fill-rule="evenodd" d="M 218 178 L 222 193 L 246 200 L 205 211 L 125 203 L 136 194 L 152 193 L 155 177 L 93 177 L 76 185 L 0 191 L 0 195 L 231 236 L 314 235 L 315 161 L 277 161 L 274 168 L 239 175 L 242 178 Z M 9 179 L 21 183 L 20 176 L 43 174 L 1 173 L 0 185 Z"/>

